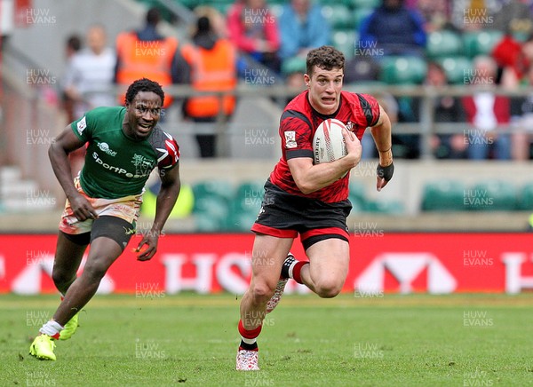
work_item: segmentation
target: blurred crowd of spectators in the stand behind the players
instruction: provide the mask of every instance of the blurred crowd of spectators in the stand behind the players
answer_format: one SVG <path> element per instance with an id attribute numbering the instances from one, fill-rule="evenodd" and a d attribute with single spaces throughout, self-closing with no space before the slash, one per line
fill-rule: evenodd
<path id="1" fill-rule="evenodd" d="M 110 91 L 142 76 L 163 87 L 189 84 L 199 92 L 230 92 L 237 83 L 301 90 L 306 53 L 323 44 L 345 52 L 345 84 L 354 90 L 358 84 L 383 82 L 386 60 L 396 57 L 422 60 L 423 77 L 415 83 L 444 88 L 457 80 L 450 79 L 442 60 L 428 55 L 431 37 L 489 32 L 497 38 L 471 58 L 459 82 L 472 86 L 472 94 L 434 99 L 434 122 L 462 122 L 464 130 L 435 135 L 432 151 L 439 159 L 533 159 L 533 94 L 508 97 L 479 87 L 533 86 L 533 0 L 235 0 L 224 9 L 220 2 L 209 3 L 194 7 L 187 38 L 163 36 L 157 8 L 147 12 L 144 26 L 124 31 L 115 42 L 109 42 L 102 25 L 91 26 L 84 36 L 69 36 L 62 82 L 69 120 L 92 107 L 122 105 L 123 97 L 116 100 Z M 420 121 L 420 99 L 383 91 L 376 97 L 395 122 Z M 232 119 L 235 97 L 165 98 L 165 107 L 175 102 L 198 128 L 199 154 L 215 157 L 213 128 Z M 365 157 L 376 155 L 371 146 L 363 149 Z M 418 158 L 420 136 L 394 135 L 394 155 Z"/>

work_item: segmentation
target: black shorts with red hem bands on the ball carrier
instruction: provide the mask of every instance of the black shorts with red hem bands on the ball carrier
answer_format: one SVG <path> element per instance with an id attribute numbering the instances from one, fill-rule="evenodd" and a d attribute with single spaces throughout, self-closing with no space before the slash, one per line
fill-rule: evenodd
<path id="1" fill-rule="evenodd" d="M 251 231 L 278 238 L 296 238 L 299 233 L 304 249 L 330 238 L 348 241 L 346 217 L 351 209 L 352 203 L 347 199 L 326 203 L 288 194 L 268 179 L 265 197 Z"/>

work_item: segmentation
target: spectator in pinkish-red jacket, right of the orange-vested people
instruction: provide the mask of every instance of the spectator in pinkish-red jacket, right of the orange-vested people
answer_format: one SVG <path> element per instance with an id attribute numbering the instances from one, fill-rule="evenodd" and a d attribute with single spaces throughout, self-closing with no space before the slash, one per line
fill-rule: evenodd
<path id="1" fill-rule="evenodd" d="M 239 51 L 251 55 L 274 72 L 280 71 L 280 35 L 266 0 L 237 0 L 227 12 L 230 40 Z M 241 75 L 246 65 L 240 68 Z"/>

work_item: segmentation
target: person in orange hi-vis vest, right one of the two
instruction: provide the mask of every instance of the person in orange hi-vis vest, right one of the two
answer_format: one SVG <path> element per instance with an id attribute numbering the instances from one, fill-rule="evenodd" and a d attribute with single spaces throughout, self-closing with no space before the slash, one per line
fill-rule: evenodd
<path id="1" fill-rule="evenodd" d="M 237 83 L 236 53 L 234 45 L 217 36 L 211 28 L 211 20 L 201 16 L 196 23 L 192 43 L 184 45 L 180 52 L 180 72 L 195 91 L 233 91 Z M 202 157 L 216 155 L 215 122 L 222 122 L 233 115 L 235 96 L 200 95 L 188 98 L 183 105 L 186 119 L 195 122 L 199 132 L 196 141 Z"/>

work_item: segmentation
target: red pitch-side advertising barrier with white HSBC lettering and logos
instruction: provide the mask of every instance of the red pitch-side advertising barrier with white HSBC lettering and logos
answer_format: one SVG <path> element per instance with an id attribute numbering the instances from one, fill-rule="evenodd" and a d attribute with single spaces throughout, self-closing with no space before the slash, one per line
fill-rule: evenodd
<path id="1" fill-rule="evenodd" d="M 519 293 L 533 288 L 529 233 L 384 233 L 351 235 L 351 264 L 344 291 L 384 293 Z M 163 234 L 156 256 L 138 262 L 131 249 L 102 280 L 99 293 L 163 296 L 180 291 L 242 294 L 251 276 L 253 234 Z M 55 235 L 0 235 L 0 293 L 53 293 Z M 293 253 L 304 257 L 299 241 Z M 256 257 L 263 265 L 269 258 Z M 306 292 L 290 281 L 288 292 Z"/>

